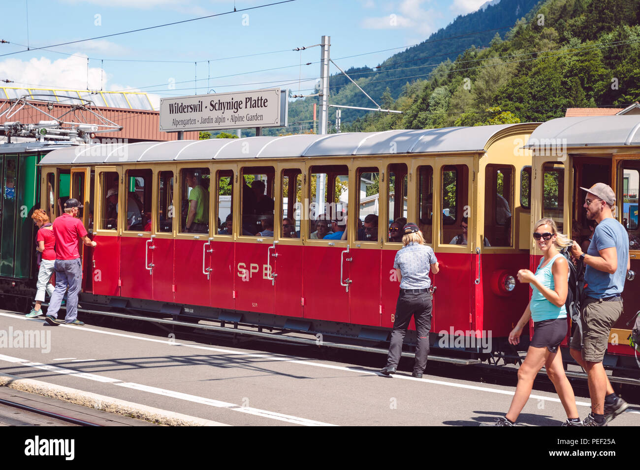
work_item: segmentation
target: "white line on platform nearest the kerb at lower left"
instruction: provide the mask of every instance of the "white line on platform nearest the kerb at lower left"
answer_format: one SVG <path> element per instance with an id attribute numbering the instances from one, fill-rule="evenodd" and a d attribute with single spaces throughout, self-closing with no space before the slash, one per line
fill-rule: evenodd
<path id="1" fill-rule="evenodd" d="M 32 363 L 27 359 L 19 359 L 19 357 L 4 356 L 0 354 L 0 361 L 6 361 L 13 364 L 20 364 L 23 366 L 33 367 L 35 369 L 47 370 L 49 372 L 56 372 L 65 375 L 73 375 L 74 377 L 80 377 L 81 379 L 95 380 L 96 382 L 110 383 L 124 388 L 131 388 L 135 390 L 145 391 L 148 393 L 154 393 L 156 395 L 171 396 L 172 398 L 178 398 L 179 400 L 186 400 L 188 402 L 201 403 L 203 405 L 209 405 L 216 408 L 225 408 L 231 411 L 239 411 L 243 413 L 253 414 L 255 416 L 262 416 L 263 418 L 278 419 L 278 421 L 287 421 L 287 423 L 293 423 L 302 426 L 334 426 L 329 423 L 323 423 L 321 421 L 314 421 L 312 419 L 298 418 L 297 416 L 291 416 L 289 414 L 282 414 L 273 411 L 266 411 L 252 407 L 244 407 L 236 405 L 235 403 L 221 402 L 220 400 L 213 400 L 212 398 L 204 398 L 204 396 L 189 395 L 188 393 L 180 393 L 173 390 L 166 390 L 162 388 L 150 387 L 147 385 L 136 384 L 134 382 L 123 382 L 120 379 L 111 379 L 111 377 L 104 377 L 102 375 L 95 375 L 92 373 L 77 372 L 71 369 L 65 369 L 51 364 Z"/>

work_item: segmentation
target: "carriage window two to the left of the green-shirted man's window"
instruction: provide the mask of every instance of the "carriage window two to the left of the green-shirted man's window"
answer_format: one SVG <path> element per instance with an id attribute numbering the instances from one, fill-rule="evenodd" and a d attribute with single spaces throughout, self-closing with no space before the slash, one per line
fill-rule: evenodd
<path id="1" fill-rule="evenodd" d="M 152 172 L 150 169 L 127 170 L 125 230 L 151 231 Z"/>

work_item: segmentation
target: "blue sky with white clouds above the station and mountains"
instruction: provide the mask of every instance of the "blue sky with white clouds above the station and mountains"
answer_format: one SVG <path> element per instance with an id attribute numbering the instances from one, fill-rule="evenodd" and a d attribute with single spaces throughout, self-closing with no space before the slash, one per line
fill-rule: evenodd
<path id="1" fill-rule="evenodd" d="M 322 35 L 329 35 L 331 57 L 340 67 L 371 67 L 394 52 L 425 40 L 457 15 L 477 10 L 484 3 L 484 0 L 295 0 L 54 47 L 51 51 L 1 56 L 24 51 L 26 45 L 44 47 L 232 12 L 234 4 L 241 10 L 275 1 L 278 0 L 3 2 L 0 39 L 10 43 L 0 44 L 0 79 L 15 82 L 5 86 L 29 88 L 140 90 L 156 99 L 271 86 L 291 88 L 294 93 L 300 88 L 302 93 L 308 93 L 320 74 L 320 49 L 313 47 L 303 52 L 291 49 L 315 45 Z M 369 54 L 385 49 L 393 50 Z M 265 54 L 275 51 L 283 52 Z M 260 55 L 225 59 L 248 54 Z M 305 65 L 308 62 L 312 64 Z M 332 65 L 332 74 L 337 71 Z M 300 78 L 307 81 L 299 82 Z"/>

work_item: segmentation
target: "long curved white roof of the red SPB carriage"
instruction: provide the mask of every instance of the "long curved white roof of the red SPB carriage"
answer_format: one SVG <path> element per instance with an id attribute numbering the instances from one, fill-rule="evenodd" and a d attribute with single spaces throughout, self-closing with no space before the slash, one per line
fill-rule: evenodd
<path id="1" fill-rule="evenodd" d="M 43 165 L 118 164 L 228 159 L 388 155 L 390 153 L 484 152 L 494 136 L 523 124 L 444 129 L 387 130 L 284 137 L 94 144 L 54 150 Z M 526 126 L 531 126 L 527 124 Z"/>

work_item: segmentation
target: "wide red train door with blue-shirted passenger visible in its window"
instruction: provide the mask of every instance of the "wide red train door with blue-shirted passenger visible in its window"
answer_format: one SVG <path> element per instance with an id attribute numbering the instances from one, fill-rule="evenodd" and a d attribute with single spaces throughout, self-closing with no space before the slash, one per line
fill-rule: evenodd
<path id="1" fill-rule="evenodd" d="M 348 323 L 351 247 L 342 234 L 349 200 L 355 200 L 348 191 L 349 167 L 319 162 L 306 175 L 300 217 L 308 237 L 303 239 L 303 317 Z M 354 226 L 349 223 L 349 230 Z"/>

